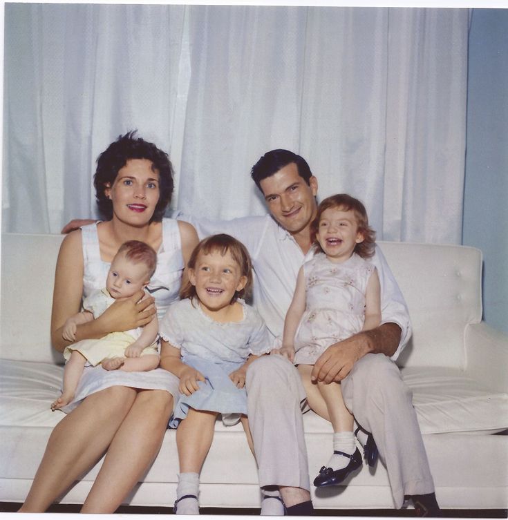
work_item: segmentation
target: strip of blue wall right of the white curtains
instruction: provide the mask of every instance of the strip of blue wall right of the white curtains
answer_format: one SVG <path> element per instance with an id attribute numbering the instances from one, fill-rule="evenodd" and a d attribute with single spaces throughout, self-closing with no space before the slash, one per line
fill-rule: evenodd
<path id="1" fill-rule="evenodd" d="M 508 333 L 508 9 L 471 17 L 462 243 L 483 251 L 484 319 Z"/>

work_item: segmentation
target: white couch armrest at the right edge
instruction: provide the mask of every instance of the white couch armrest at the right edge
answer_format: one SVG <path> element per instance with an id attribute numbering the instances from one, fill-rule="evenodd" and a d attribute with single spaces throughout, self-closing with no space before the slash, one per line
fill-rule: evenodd
<path id="1" fill-rule="evenodd" d="M 508 335 L 485 322 L 467 325 L 465 372 L 496 392 L 508 392 Z"/>

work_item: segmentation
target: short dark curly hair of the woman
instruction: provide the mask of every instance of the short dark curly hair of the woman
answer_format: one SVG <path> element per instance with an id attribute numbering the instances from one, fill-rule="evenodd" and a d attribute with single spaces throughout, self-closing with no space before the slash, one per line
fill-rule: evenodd
<path id="1" fill-rule="evenodd" d="M 106 197 L 104 190 L 113 186 L 118 171 L 127 164 L 128 160 L 147 159 L 151 161 L 153 171 L 159 173 L 160 191 L 159 201 L 150 222 L 160 222 L 173 194 L 173 166 L 171 166 L 167 153 L 159 150 L 155 144 L 149 143 L 141 137 L 135 137 L 135 133 L 136 131 L 131 131 L 125 135 L 119 135 L 118 139 L 97 157 L 97 170 L 93 176 L 97 206 L 102 216 L 106 220 L 111 220 L 113 202 Z"/>

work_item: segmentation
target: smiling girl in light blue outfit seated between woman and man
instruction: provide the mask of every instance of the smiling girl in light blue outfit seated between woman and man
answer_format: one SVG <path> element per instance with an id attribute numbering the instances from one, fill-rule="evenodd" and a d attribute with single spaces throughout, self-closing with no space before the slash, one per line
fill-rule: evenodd
<path id="1" fill-rule="evenodd" d="M 202 240 L 191 254 L 182 300 L 160 323 L 160 365 L 180 378 L 170 427 L 178 427 L 180 474 L 176 514 L 199 514 L 199 473 L 214 436 L 218 413 L 225 425 L 242 421 L 247 441 L 247 366 L 270 351 L 261 317 L 240 298 L 252 285 L 247 250 L 229 235 Z"/>

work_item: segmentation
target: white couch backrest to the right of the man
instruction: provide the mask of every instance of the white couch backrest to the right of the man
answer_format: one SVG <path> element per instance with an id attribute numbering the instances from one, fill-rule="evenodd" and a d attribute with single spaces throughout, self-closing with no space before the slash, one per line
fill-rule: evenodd
<path id="1" fill-rule="evenodd" d="M 397 365 L 465 365 L 464 328 L 482 316 L 482 253 L 465 246 L 379 242 L 406 299 L 413 337 Z"/>

